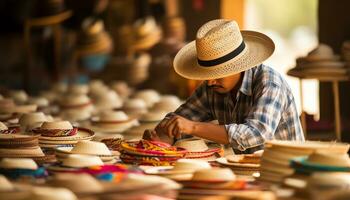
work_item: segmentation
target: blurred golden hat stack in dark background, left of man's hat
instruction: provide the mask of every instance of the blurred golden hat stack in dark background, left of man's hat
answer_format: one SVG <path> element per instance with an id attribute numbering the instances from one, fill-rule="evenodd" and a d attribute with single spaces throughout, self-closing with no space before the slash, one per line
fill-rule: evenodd
<path id="1" fill-rule="evenodd" d="M 162 30 L 153 17 L 138 19 L 133 27 L 133 50 L 147 50 L 157 44 L 162 38 Z"/>

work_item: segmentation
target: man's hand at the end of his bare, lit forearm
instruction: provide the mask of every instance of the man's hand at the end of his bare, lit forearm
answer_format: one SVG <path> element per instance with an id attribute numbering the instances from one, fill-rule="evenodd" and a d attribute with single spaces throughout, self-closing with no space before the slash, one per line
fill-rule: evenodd
<path id="1" fill-rule="evenodd" d="M 171 115 L 164 118 L 155 128 L 158 134 L 164 134 L 169 138 L 181 138 L 182 134 L 192 134 L 195 122 L 179 115 Z"/>

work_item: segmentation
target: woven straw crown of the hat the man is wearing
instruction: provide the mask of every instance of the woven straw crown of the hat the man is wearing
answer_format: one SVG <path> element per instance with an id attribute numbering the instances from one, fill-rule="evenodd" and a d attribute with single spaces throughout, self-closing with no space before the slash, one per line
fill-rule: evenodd
<path id="1" fill-rule="evenodd" d="M 212 20 L 197 31 L 197 57 L 204 61 L 218 59 L 237 49 L 242 42 L 236 21 Z"/>

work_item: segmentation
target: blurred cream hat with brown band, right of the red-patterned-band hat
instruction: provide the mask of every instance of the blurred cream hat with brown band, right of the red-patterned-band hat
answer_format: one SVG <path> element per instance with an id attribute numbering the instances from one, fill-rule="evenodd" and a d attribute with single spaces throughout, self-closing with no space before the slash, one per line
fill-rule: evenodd
<path id="1" fill-rule="evenodd" d="M 98 117 L 92 118 L 91 123 L 95 131 L 114 133 L 121 133 L 138 125 L 137 119 L 129 117 L 123 111 L 102 112 Z"/>

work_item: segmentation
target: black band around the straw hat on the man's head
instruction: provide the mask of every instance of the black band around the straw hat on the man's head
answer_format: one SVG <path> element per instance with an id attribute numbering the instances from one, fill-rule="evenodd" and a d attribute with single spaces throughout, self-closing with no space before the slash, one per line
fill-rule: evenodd
<path id="1" fill-rule="evenodd" d="M 220 65 L 224 62 L 227 62 L 233 58 L 235 58 L 236 56 L 238 56 L 240 53 L 242 53 L 242 51 L 245 49 L 245 43 L 242 40 L 242 43 L 233 51 L 231 51 L 230 53 L 220 57 L 220 58 L 216 58 L 213 60 L 201 60 L 199 58 L 197 58 L 198 60 L 198 64 L 202 67 L 212 67 L 212 66 L 216 66 L 216 65 Z"/>

